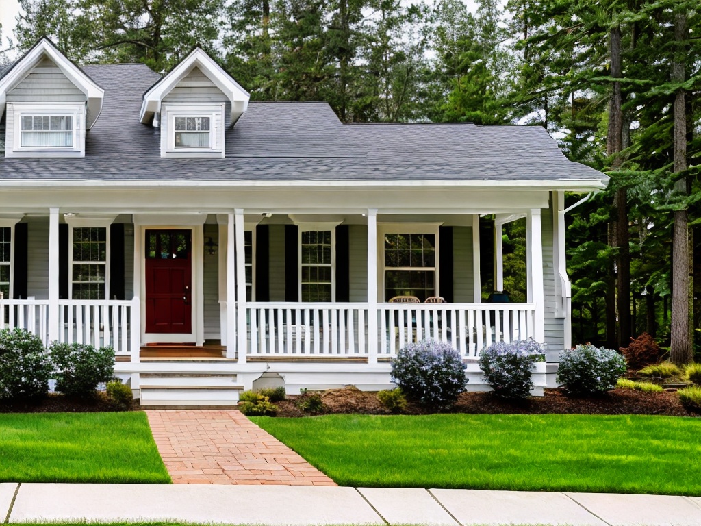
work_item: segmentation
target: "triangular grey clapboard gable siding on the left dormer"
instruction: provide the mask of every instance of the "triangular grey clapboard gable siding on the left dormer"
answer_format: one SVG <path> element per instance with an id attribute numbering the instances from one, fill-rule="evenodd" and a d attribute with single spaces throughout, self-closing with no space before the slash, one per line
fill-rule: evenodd
<path id="1" fill-rule="evenodd" d="M 86 102 L 87 97 L 48 57 L 8 91 L 7 102 Z"/>

